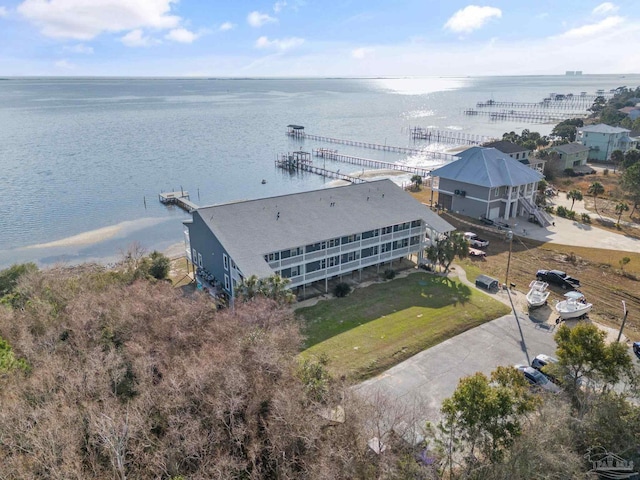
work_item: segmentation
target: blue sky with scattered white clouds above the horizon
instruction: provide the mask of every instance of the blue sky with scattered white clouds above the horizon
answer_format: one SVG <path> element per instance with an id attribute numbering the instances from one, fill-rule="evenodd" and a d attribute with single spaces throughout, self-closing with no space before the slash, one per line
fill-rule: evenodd
<path id="1" fill-rule="evenodd" d="M 640 1 L 0 0 L 0 76 L 640 73 Z"/>

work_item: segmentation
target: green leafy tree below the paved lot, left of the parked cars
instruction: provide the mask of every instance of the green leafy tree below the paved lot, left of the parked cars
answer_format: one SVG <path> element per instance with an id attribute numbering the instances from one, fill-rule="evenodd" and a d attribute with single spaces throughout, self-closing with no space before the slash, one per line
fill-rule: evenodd
<path id="1" fill-rule="evenodd" d="M 455 457 L 465 458 L 467 468 L 480 459 L 500 460 L 538 403 L 524 376 L 512 367 L 498 367 L 491 378 L 478 372 L 461 379 L 442 403 L 439 424 L 450 476 Z"/>

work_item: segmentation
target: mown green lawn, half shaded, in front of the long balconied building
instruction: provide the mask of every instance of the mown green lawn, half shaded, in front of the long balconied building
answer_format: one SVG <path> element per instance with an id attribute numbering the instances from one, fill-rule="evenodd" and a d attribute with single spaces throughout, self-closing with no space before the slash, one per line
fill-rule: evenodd
<path id="1" fill-rule="evenodd" d="M 358 380 L 507 313 L 475 289 L 423 272 L 296 311 L 307 338 L 302 355 L 324 354 L 332 373 Z"/>

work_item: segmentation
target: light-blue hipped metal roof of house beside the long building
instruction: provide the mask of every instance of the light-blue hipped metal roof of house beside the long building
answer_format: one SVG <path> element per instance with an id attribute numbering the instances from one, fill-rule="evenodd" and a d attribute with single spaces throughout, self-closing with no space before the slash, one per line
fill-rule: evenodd
<path id="1" fill-rule="evenodd" d="M 526 185 L 544 178 L 495 148 L 471 147 L 457 156 L 459 160 L 433 170 L 431 175 L 482 187 Z"/>

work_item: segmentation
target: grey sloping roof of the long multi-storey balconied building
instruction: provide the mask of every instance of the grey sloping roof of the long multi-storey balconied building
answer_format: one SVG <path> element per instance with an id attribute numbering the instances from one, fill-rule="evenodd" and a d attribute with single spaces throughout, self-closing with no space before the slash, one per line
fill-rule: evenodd
<path id="1" fill-rule="evenodd" d="M 391 180 L 325 188 L 198 208 L 197 213 L 244 275 L 273 271 L 264 255 L 422 219 L 437 232 L 453 226 Z"/>

